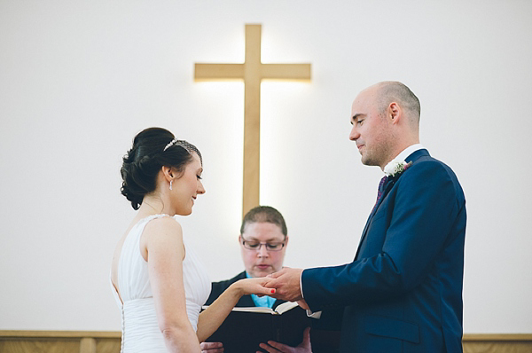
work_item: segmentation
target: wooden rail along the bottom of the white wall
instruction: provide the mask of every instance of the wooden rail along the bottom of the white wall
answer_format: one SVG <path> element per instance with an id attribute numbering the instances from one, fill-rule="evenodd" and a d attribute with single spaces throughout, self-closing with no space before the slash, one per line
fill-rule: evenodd
<path id="1" fill-rule="evenodd" d="M 465 334 L 464 353 L 530 353 L 532 333 Z M 120 353 L 111 331 L 0 331 L 2 353 Z"/>

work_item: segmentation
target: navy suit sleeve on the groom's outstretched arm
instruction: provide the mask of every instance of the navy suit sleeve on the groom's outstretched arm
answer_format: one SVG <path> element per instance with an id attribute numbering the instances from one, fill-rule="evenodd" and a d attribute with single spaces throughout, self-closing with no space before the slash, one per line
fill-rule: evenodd
<path id="1" fill-rule="evenodd" d="M 379 254 L 335 267 L 305 270 L 302 291 L 313 311 L 332 306 L 376 302 L 409 292 L 426 278 L 444 244 L 453 235 L 459 202 L 454 175 L 439 161 L 419 161 L 394 187 L 389 225 L 374 220 L 373 231 L 386 233 Z M 389 206 L 388 206 L 389 207 Z"/>

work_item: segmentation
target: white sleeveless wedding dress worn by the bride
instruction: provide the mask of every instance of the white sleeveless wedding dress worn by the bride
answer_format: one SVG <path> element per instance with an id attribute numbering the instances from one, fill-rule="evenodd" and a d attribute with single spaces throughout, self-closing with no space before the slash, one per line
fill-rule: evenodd
<path id="1" fill-rule="evenodd" d="M 148 263 L 140 254 L 140 236 L 154 215 L 140 220 L 124 240 L 118 263 L 118 289 L 123 305 L 113 286 L 114 297 L 121 309 L 121 352 L 168 352 L 160 333 L 153 293 L 148 277 Z M 201 306 L 207 302 L 211 284 L 203 265 L 184 237 L 185 256 L 183 282 L 187 316 L 198 327 Z"/>

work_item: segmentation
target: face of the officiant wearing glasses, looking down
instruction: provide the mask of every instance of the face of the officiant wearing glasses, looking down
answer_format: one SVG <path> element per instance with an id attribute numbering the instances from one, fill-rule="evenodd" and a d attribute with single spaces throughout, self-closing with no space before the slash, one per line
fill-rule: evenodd
<path id="1" fill-rule="evenodd" d="M 246 247 L 243 240 L 246 241 Z M 247 223 L 244 232 L 239 237 L 239 242 L 242 259 L 250 276 L 265 277 L 283 268 L 288 236 L 285 237 L 277 224 L 269 222 Z M 266 243 L 273 246 L 278 245 L 280 250 L 269 250 Z M 285 245 L 282 246 L 282 243 Z M 254 248 L 248 248 L 250 244 Z"/>

